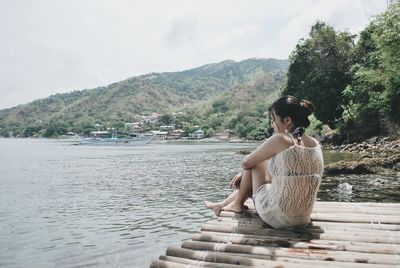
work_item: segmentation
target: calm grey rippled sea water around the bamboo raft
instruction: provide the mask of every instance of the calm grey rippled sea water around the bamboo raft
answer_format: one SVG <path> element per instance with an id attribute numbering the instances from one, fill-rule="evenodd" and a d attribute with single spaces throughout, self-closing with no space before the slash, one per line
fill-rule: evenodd
<path id="1" fill-rule="evenodd" d="M 255 146 L 0 139 L 0 266 L 148 267 L 212 218 L 203 200 L 230 193 L 235 152 Z M 399 186 L 399 175 L 326 177 L 318 198 L 400 202 Z"/>

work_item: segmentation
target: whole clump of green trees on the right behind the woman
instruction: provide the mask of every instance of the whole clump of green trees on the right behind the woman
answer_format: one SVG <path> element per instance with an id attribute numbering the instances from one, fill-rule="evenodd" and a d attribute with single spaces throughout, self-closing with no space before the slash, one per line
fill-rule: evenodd
<path id="1" fill-rule="evenodd" d="M 290 55 L 283 94 L 311 100 L 338 142 L 400 136 L 400 2 L 357 36 L 316 23 Z M 357 40 L 357 42 L 356 42 Z"/>

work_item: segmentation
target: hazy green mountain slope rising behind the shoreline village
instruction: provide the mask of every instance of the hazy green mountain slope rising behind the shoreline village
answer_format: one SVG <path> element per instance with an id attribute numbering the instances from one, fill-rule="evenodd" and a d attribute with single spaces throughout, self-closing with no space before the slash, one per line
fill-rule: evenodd
<path id="1" fill-rule="evenodd" d="M 276 90 L 285 79 L 287 67 L 287 60 L 247 59 L 226 60 L 182 72 L 150 73 L 0 110 L 0 128 L 3 133 L 21 133 L 28 127 L 43 128 L 48 124 L 63 124 L 68 129 L 96 121 L 132 122 L 136 115 L 181 111 L 228 95 L 234 106 L 240 103 L 235 98 L 245 92 L 247 96 L 251 88 L 252 97 L 262 93 L 260 85 L 257 93 L 257 83 L 264 83 L 264 88 L 272 85 Z M 265 81 L 270 81 L 270 86 Z"/>

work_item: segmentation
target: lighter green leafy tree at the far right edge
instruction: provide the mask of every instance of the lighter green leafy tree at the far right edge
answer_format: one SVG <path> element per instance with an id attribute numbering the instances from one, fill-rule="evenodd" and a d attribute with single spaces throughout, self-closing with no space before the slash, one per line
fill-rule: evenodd
<path id="1" fill-rule="evenodd" d="M 400 123 L 400 3 L 372 21 L 353 51 L 340 128 L 349 139 L 396 132 Z"/>

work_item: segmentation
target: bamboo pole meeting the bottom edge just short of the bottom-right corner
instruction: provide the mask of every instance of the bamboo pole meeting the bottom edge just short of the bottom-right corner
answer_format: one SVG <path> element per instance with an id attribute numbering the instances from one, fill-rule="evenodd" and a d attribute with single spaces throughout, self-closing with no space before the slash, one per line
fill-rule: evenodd
<path id="1" fill-rule="evenodd" d="M 278 255 L 254 255 L 243 253 L 198 251 L 186 248 L 169 247 L 167 256 L 205 261 L 211 263 L 227 263 L 244 266 L 267 267 L 351 267 L 351 268 L 384 268 L 393 267 L 386 264 L 366 264 L 355 262 L 334 262 L 332 260 L 309 260 L 296 257 L 281 257 Z M 240 267 L 240 266 L 238 266 Z"/>

